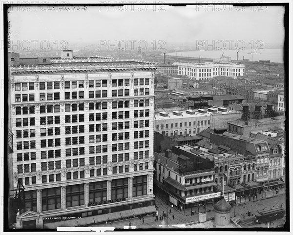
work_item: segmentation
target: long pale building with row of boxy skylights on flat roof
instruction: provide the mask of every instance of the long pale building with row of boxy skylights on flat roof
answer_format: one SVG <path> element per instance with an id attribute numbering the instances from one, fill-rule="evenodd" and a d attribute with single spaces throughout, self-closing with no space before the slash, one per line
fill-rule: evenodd
<path id="1" fill-rule="evenodd" d="M 228 120 L 241 117 L 241 112 L 227 110 L 223 107 L 208 109 L 160 112 L 155 114 L 154 130 L 166 136 L 197 133 L 210 128 L 227 128 Z"/>

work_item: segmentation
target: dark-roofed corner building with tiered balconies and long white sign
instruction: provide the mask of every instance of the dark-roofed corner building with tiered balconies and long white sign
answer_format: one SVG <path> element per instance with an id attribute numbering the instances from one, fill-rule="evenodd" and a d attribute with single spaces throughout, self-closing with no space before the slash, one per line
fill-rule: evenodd
<path id="1" fill-rule="evenodd" d="M 193 154 L 192 147 L 177 146 L 166 150 L 165 155 L 155 154 L 154 184 L 158 194 L 178 208 L 194 211 L 195 206 L 219 198 L 213 192 L 213 160 Z"/>

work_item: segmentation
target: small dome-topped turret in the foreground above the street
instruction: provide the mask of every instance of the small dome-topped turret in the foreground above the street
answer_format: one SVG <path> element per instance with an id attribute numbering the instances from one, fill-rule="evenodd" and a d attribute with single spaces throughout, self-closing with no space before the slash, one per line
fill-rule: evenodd
<path id="1" fill-rule="evenodd" d="M 222 199 L 215 204 L 215 223 L 217 225 L 227 225 L 230 223 L 230 212 L 231 206 L 225 200 L 224 196 Z"/>

